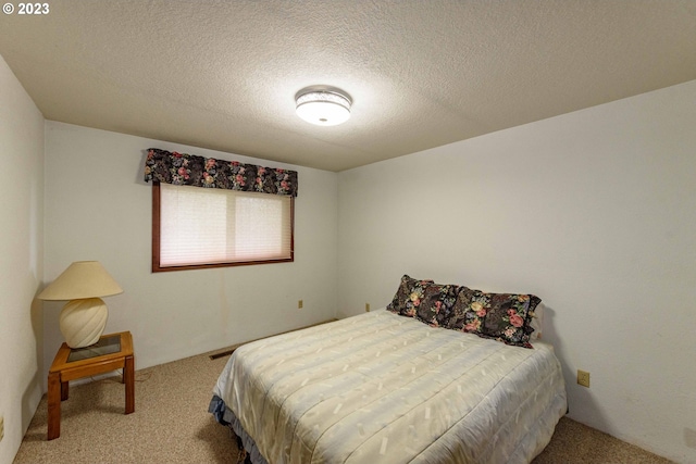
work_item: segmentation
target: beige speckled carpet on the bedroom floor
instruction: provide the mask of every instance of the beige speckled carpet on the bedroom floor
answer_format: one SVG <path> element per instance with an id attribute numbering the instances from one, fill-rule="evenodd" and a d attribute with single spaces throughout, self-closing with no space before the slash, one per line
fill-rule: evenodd
<path id="1" fill-rule="evenodd" d="M 14 463 L 232 463 L 235 441 L 208 413 L 213 385 L 227 359 L 211 361 L 201 354 L 137 371 L 135 413 L 129 415 L 123 414 L 120 377 L 71 386 L 70 399 L 62 403 L 61 436 L 52 441 L 46 441 L 45 396 Z M 551 443 L 533 461 L 669 462 L 569 418 L 561 419 Z"/>

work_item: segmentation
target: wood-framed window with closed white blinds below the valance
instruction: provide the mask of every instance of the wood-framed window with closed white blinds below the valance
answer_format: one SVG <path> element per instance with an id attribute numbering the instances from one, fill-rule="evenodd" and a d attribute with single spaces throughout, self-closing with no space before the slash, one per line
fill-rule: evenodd
<path id="1" fill-rule="evenodd" d="M 152 183 L 152 272 L 294 261 L 295 199 Z"/>

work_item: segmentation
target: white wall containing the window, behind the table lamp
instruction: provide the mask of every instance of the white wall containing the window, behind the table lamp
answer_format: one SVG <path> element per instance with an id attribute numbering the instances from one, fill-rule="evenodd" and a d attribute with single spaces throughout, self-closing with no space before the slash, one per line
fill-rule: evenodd
<path id="1" fill-rule="evenodd" d="M 334 317 L 336 173 L 55 122 L 46 127 L 46 280 L 73 261 L 100 261 L 124 289 L 104 299 L 105 330 L 132 331 L 136 368 Z M 152 274 L 152 188 L 142 180 L 151 147 L 298 171 L 295 262 Z M 62 342 L 61 304 L 45 304 L 47 363 Z"/>

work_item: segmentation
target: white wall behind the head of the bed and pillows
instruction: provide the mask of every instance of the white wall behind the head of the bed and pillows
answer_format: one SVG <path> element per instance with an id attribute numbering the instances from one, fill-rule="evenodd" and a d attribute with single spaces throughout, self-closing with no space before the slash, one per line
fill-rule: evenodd
<path id="1" fill-rule="evenodd" d="M 340 173 L 339 314 L 405 273 L 533 292 L 570 416 L 696 462 L 695 101 L 691 81 Z"/>

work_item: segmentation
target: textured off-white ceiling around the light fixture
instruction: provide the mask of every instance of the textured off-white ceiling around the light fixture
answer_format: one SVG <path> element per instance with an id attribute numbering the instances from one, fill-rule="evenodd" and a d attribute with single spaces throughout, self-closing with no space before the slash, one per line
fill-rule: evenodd
<path id="1" fill-rule="evenodd" d="M 46 118 L 330 171 L 696 79 L 694 0 L 49 7 L 0 17 Z M 347 91 L 351 118 L 300 120 L 310 85 Z"/>

